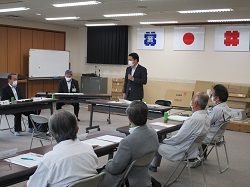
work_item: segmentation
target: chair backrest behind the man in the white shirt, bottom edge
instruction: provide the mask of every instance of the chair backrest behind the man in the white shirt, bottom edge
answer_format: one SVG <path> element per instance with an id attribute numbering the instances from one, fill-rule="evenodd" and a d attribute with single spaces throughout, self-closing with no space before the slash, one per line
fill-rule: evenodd
<path id="1" fill-rule="evenodd" d="M 73 182 L 68 187 L 99 187 L 106 173 L 101 172 L 95 176 L 88 177 L 85 179 L 80 179 L 76 182 Z"/>

